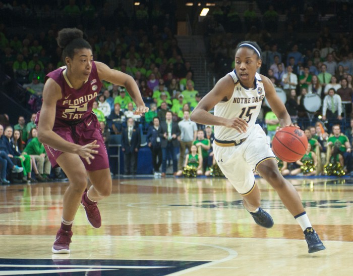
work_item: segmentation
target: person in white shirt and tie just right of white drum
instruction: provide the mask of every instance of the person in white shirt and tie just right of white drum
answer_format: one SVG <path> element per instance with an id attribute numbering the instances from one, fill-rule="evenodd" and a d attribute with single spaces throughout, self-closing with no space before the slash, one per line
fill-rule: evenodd
<path id="1" fill-rule="evenodd" d="M 326 118 L 329 120 L 342 120 L 342 101 L 341 97 L 339 97 L 339 95 L 335 92 L 335 89 L 330 88 L 328 90 L 328 95 L 324 98 L 324 103 L 322 105 L 322 119 L 324 121 Z"/>

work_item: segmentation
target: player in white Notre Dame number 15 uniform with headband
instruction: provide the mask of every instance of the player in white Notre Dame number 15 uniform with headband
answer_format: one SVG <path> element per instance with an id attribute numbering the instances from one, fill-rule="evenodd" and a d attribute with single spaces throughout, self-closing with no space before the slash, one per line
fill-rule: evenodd
<path id="1" fill-rule="evenodd" d="M 255 124 L 264 97 L 282 127 L 292 125 L 288 112 L 276 95 L 269 78 L 257 73 L 261 49 L 254 41 L 243 41 L 236 48 L 235 69 L 221 78 L 199 102 L 191 119 L 214 125 L 213 153 L 217 164 L 243 197 L 245 208 L 255 222 L 273 226 L 271 216 L 260 207 L 257 171 L 276 190 L 285 207 L 298 221 L 308 243 L 309 253 L 325 246 L 313 229 L 296 189 L 280 174 L 265 132 Z M 209 113 L 214 108 L 214 115 Z"/>

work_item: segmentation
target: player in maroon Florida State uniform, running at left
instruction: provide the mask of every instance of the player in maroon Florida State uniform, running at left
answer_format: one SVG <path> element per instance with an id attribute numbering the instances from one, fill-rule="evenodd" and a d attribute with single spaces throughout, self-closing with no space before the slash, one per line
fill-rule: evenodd
<path id="1" fill-rule="evenodd" d="M 45 77 L 43 105 L 37 114 L 38 139 L 45 145 L 53 167 L 60 166 L 69 178 L 65 192 L 61 228 L 56 234 L 53 253 L 70 253 L 71 228 L 80 203 L 94 228 L 101 226 L 97 201 L 111 193 L 108 155 L 97 117 L 92 112 L 101 80 L 125 86 L 136 103 L 137 113 L 145 107 L 134 79 L 93 61 L 90 44 L 79 29 L 58 33 L 66 66 Z M 87 176 L 92 186 L 87 191 Z M 86 190 L 85 190 L 86 189 Z"/>

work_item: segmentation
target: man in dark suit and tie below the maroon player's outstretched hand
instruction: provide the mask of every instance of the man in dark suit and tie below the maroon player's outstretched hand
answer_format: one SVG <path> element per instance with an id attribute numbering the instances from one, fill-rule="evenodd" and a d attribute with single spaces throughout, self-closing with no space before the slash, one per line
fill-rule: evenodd
<path id="1" fill-rule="evenodd" d="M 135 128 L 133 118 L 128 119 L 127 127 L 122 132 L 122 150 L 124 152 L 124 174 L 135 175 L 137 154 L 141 145 L 141 133 Z"/>

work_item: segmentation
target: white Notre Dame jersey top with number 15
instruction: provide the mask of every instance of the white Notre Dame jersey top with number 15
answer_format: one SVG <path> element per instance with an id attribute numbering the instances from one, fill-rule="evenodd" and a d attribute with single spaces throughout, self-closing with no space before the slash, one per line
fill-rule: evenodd
<path id="1" fill-rule="evenodd" d="M 262 101 L 265 98 L 265 89 L 261 77 L 255 74 L 255 88 L 245 88 L 240 81 L 236 70 L 228 73 L 234 80 L 234 91 L 231 98 L 226 102 L 219 102 L 214 107 L 214 115 L 223 118 L 241 117 L 248 123 L 248 130 L 241 133 L 234 128 L 221 125 L 214 126 L 215 139 L 220 141 L 236 141 L 244 139 L 254 128 L 257 116 L 260 113 Z"/>

